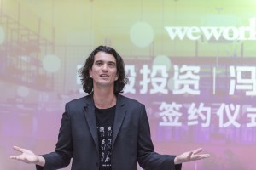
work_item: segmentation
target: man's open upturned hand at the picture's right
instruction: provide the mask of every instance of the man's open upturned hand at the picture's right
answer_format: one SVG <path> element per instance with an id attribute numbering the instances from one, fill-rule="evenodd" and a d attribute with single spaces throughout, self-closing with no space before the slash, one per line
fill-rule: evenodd
<path id="1" fill-rule="evenodd" d="M 202 150 L 203 150 L 202 148 L 198 148 L 196 150 L 184 152 L 175 157 L 174 163 L 181 164 L 188 161 L 197 161 L 210 156 L 209 154 L 200 154 Z"/>

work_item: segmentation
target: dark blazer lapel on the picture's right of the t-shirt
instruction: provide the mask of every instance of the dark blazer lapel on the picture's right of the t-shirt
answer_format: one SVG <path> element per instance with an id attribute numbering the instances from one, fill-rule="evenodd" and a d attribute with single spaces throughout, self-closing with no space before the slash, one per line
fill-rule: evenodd
<path id="1" fill-rule="evenodd" d="M 126 107 L 125 107 L 125 101 L 124 97 L 122 95 L 117 95 L 117 103 L 116 103 L 116 110 L 113 120 L 113 139 L 112 139 L 112 146 L 115 142 L 115 139 L 119 133 L 119 129 L 124 121 L 125 113 L 126 113 Z"/>

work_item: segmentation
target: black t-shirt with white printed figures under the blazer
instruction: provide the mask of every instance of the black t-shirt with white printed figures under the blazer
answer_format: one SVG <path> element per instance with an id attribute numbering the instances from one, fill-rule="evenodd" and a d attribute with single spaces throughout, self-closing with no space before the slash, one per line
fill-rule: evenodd
<path id="1" fill-rule="evenodd" d="M 108 109 L 95 107 L 99 139 L 100 170 L 111 170 L 111 150 L 113 135 L 113 117 L 115 106 Z"/>

